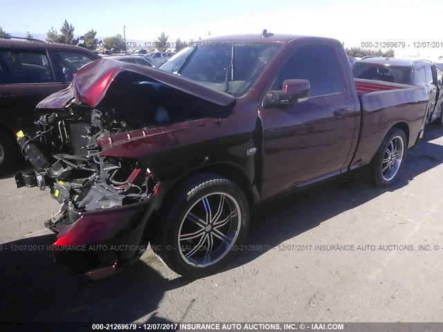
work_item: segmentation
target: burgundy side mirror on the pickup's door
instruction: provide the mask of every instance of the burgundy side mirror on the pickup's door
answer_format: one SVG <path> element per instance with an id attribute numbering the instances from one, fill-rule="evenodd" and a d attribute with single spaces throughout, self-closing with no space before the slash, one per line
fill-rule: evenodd
<path id="1" fill-rule="evenodd" d="M 281 91 L 269 91 L 263 100 L 263 107 L 285 107 L 300 99 L 309 97 L 309 81 L 284 80 Z"/>

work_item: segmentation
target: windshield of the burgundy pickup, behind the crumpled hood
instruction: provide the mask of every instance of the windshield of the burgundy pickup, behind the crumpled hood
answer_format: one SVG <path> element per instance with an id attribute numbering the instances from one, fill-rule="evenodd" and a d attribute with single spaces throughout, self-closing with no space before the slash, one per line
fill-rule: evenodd
<path id="1" fill-rule="evenodd" d="M 276 43 L 212 44 L 185 48 L 159 69 L 239 97 L 251 88 L 280 49 Z"/>

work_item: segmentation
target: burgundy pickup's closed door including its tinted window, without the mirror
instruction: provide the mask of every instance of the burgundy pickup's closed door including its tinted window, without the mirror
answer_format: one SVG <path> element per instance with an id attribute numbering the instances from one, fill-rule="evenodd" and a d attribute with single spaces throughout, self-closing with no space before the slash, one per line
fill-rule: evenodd
<path id="1" fill-rule="evenodd" d="M 340 174 L 346 167 L 360 110 L 344 84 L 345 70 L 332 46 L 303 46 L 278 72 L 269 91 L 281 90 L 284 80 L 304 79 L 310 93 L 307 100 L 284 109 L 260 107 L 262 199 Z"/>

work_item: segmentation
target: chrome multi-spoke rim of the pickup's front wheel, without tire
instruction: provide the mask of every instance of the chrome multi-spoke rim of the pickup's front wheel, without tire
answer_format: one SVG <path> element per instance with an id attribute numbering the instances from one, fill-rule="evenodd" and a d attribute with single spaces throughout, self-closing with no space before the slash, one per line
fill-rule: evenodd
<path id="1" fill-rule="evenodd" d="M 181 221 L 177 239 L 181 258 L 199 268 L 217 263 L 233 248 L 241 225 L 242 213 L 233 196 L 214 192 L 202 197 Z"/>

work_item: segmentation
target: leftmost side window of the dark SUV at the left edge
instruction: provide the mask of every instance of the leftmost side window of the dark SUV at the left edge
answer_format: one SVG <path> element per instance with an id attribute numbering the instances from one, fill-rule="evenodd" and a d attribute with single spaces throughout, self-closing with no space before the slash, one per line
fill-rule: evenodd
<path id="1" fill-rule="evenodd" d="M 45 51 L 0 51 L 0 83 L 26 84 L 54 82 Z"/>

